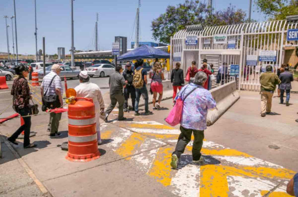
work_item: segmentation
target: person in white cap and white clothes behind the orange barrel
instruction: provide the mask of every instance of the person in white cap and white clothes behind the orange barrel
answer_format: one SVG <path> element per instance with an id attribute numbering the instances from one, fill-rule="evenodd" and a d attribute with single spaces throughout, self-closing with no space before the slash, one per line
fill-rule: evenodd
<path id="1" fill-rule="evenodd" d="M 75 87 L 78 97 L 92 98 L 95 106 L 95 121 L 97 131 L 97 144 L 101 144 L 100 137 L 100 113 L 105 110 L 105 103 L 98 85 L 90 82 L 90 77 L 87 71 L 80 71 L 80 85 Z"/>

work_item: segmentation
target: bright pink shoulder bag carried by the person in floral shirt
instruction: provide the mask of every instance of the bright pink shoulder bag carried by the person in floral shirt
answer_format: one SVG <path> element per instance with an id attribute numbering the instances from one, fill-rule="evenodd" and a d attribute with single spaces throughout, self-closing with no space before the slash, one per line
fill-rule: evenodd
<path id="1" fill-rule="evenodd" d="M 170 114 L 164 120 L 171 126 L 176 126 L 177 124 L 180 124 L 182 110 L 183 110 L 183 101 L 181 100 L 181 98 L 178 98 L 176 100 L 175 106 L 170 111 Z"/>

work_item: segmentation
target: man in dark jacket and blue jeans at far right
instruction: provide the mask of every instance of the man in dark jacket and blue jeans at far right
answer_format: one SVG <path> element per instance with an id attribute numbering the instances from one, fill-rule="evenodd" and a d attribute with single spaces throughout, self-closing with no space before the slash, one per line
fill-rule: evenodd
<path id="1" fill-rule="evenodd" d="M 292 89 L 291 82 L 294 81 L 293 74 L 289 72 L 289 67 L 284 68 L 285 71 L 280 74 L 279 79 L 281 81 L 278 89 L 280 89 L 280 104 L 283 104 L 283 94 L 286 93 L 286 106 L 289 106 L 290 91 Z"/>

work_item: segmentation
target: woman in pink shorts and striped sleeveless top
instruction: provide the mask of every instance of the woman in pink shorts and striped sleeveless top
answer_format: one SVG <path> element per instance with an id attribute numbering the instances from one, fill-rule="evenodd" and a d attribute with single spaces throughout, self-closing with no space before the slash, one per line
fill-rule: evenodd
<path id="1" fill-rule="evenodd" d="M 162 80 L 164 80 L 164 74 L 162 72 L 162 65 L 158 61 L 154 63 L 153 69 L 149 73 L 149 78 L 152 79 L 151 90 L 153 92 L 153 110 L 160 110 L 159 104 L 162 101 Z M 155 105 L 157 93 L 159 93 L 158 104 Z"/>

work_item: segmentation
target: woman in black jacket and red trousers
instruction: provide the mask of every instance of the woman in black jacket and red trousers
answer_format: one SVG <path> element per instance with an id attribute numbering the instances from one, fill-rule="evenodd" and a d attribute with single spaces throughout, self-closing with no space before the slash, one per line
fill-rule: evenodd
<path id="1" fill-rule="evenodd" d="M 171 83 L 173 83 L 173 103 L 175 103 L 175 97 L 177 94 L 177 88 L 181 90 L 182 85 L 184 85 L 183 70 L 180 69 L 180 63 L 176 63 L 176 68 L 171 74 Z"/>

